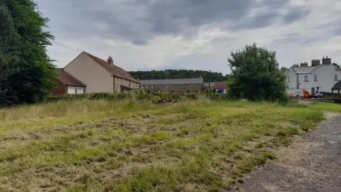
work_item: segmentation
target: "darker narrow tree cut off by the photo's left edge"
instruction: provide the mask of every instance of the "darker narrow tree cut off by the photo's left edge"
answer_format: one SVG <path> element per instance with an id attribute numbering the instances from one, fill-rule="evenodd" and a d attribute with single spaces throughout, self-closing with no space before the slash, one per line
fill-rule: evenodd
<path id="1" fill-rule="evenodd" d="M 0 105 L 8 105 L 11 97 L 9 90 L 9 77 L 18 73 L 18 47 L 20 42 L 16 33 L 13 18 L 4 4 L 0 2 Z"/>

